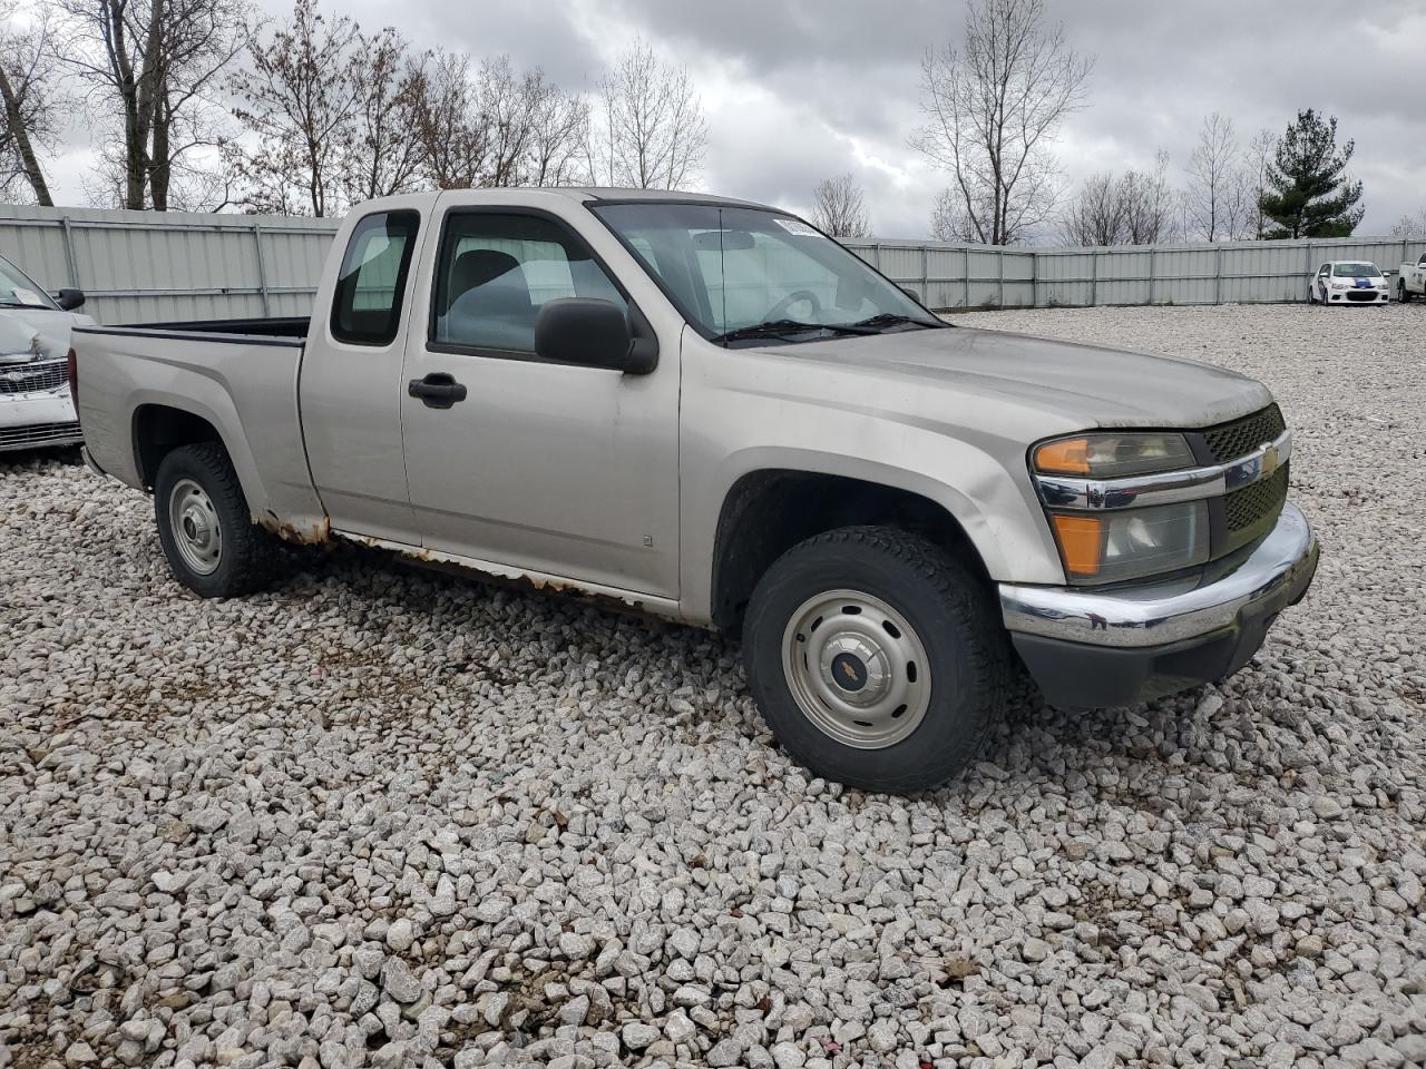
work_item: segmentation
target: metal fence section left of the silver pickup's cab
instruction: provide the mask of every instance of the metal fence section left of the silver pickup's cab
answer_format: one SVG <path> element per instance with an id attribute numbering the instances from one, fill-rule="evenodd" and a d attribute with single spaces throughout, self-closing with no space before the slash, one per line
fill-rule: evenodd
<path id="1" fill-rule="evenodd" d="M 339 220 L 0 205 L 0 255 L 100 322 L 307 315 Z"/>

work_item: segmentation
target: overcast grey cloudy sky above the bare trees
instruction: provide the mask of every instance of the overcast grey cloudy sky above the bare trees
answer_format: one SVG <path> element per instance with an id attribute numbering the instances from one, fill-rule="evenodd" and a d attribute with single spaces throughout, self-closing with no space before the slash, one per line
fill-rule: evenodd
<path id="1" fill-rule="evenodd" d="M 284 16 L 284 0 L 261 0 Z M 1281 133 L 1299 108 L 1339 120 L 1366 187 L 1358 232 L 1385 234 L 1426 210 L 1426 0 L 1048 0 L 1079 51 L 1095 57 L 1089 100 L 1062 130 L 1072 185 L 1097 171 L 1182 165 L 1211 111 L 1243 144 Z M 389 0 L 329 0 L 365 29 Z M 415 44 L 508 53 L 562 86 L 592 88 L 642 36 L 684 64 L 703 98 L 707 191 L 809 207 L 819 178 L 853 171 L 883 237 L 925 237 L 945 177 L 907 137 L 920 123 L 920 60 L 960 37 L 960 0 L 405 0 Z M 78 201 L 81 144 L 56 185 Z"/>

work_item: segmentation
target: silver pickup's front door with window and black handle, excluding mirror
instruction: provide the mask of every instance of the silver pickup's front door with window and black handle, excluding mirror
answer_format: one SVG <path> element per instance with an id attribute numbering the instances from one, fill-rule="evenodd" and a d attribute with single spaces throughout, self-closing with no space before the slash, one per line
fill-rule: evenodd
<path id="1" fill-rule="evenodd" d="M 546 301 L 629 301 L 553 212 L 452 205 L 426 259 L 402 398 L 422 544 L 677 597 L 676 345 L 650 375 L 535 355 Z"/>

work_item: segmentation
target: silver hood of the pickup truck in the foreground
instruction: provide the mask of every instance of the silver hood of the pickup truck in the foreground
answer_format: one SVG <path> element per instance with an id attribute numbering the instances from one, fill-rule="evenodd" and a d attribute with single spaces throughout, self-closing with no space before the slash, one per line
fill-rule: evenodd
<path id="1" fill-rule="evenodd" d="M 1272 401 L 1255 379 L 1182 356 L 965 326 L 837 338 L 777 352 L 994 396 L 1081 428 L 1212 426 Z"/>

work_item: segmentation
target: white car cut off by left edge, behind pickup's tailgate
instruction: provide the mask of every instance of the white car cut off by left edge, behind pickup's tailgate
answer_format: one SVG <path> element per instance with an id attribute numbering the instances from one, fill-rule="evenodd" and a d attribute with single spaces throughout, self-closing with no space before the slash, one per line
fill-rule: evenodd
<path id="1" fill-rule="evenodd" d="M 0 452 L 83 440 L 70 395 L 70 328 L 93 325 L 74 309 L 78 289 L 46 294 L 0 257 Z"/>

